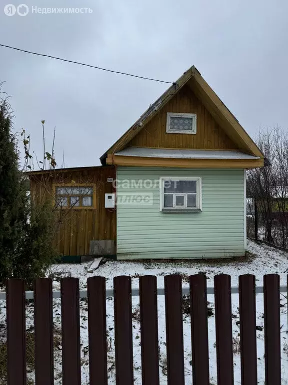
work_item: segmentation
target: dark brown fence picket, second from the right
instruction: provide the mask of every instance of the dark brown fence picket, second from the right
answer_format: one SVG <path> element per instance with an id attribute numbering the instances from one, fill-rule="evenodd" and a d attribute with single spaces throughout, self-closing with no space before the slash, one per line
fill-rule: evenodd
<path id="1" fill-rule="evenodd" d="M 239 276 L 241 385 L 257 383 L 255 276 Z"/>

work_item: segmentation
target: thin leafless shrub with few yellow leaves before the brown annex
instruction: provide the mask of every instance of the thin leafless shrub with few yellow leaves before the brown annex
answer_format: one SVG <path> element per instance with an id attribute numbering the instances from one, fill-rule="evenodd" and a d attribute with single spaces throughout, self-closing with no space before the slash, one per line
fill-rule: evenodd
<path id="1" fill-rule="evenodd" d="M 89 170 L 83 170 L 81 172 L 71 172 L 69 169 L 64 168 L 64 155 L 62 165 L 59 168 L 56 167 L 54 143 L 55 143 L 55 131 L 53 131 L 53 140 L 51 152 L 46 151 L 45 147 L 45 121 L 42 120 L 42 141 L 43 141 L 43 154 L 39 158 L 33 151 L 30 152 L 30 136 L 26 136 L 25 130 L 22 130 L 21 137 L 24 147 L 24 164 L 23 172 L 30 180 L 30 194 L 29 202 L 31 209 L 35 212 L 39 212 L 46 207 L 50 207 L 51 216 L 54 220 L 53 231 L 56 235 L 59 227 L 63 225 L 65 221 L 69 221 L 71 218 L 71 211 L 77 209 L 79 203 L 82 202 L 84 197 L 89 197 L 89 189 L 85 186 L 92 185 L 93 188 L 101 188 L 103 181 L 96 178 L 94 172 Z M 42 160 L 38 160 L 42 159 Z M 35 172 L 34 174 L 30 171 L 34 170 L 34 162 L 39 168 L 40 173 Z M 73 180 L 74 179 L 74 180 Z M 60 201 L 61 196 L 56 195 L 56 191 L 52 188 L 53 185 L 58 186 L 61 189 L 63 197 L 67 197 L 67 205 L 63 205 Z M 70 197 L 70 190 L 77 189 L 76 196 Z M 72 194 L 74 195 L 74 194 Z M 71 200 L 73 198 L 73 201 Z"/>

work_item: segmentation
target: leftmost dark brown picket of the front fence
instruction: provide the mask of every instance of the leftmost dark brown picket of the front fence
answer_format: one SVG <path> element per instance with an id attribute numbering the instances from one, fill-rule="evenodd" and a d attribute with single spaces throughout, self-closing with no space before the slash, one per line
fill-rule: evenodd
<path id="1" fill-rule="evenodd" d="M 25 289 L 21 279 L 6 283 L 8 385 L 26 385 Z"/>

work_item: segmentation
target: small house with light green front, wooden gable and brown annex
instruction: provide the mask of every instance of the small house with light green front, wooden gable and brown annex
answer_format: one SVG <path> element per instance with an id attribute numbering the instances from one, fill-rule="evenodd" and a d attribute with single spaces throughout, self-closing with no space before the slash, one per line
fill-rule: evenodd
<path id="1" fill-rule="evenodd" d="M 99 167 L 30 173 L 34 195 L 45 184 L 61 209 L 71 209 L 58 231 L 62 254 L 244 255 L 245 172 L 264 166 L 264 156 L 195 67 L 100 161 Z"/>

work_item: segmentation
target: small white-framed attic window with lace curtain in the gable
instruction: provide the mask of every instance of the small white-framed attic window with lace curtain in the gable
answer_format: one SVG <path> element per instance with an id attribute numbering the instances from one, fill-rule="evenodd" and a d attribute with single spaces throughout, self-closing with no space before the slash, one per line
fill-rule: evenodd
<path id="1" fill-rule="evenodd" d="M 173 134 L 195 134 L 196 114 L 167 112 L 166 132 Z"/>

